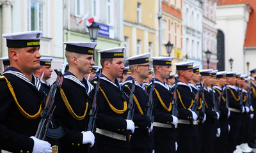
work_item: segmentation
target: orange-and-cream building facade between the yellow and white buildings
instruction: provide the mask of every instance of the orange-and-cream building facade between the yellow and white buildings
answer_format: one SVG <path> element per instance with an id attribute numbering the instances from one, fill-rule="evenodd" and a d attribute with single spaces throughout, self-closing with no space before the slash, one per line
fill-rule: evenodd
<path id="1" fill-rule="evenodd" d="M 170 41 L 173 44 L 172 62 L 182 62 L 182 0 L 162 0 L 161 8 L 161 55 L 168 56 L 165 44 Z M 172 69 L 176 72 L 176 66 L 173 65 Z"/>

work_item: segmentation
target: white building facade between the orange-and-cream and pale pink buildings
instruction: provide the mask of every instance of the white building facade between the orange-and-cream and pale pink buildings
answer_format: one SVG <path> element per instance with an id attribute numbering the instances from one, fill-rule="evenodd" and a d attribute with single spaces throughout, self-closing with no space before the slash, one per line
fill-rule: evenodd
<path id="1" fill-rule="evenodd" d="M 183 7 L 183 55 L 184 61 L 195 61 L 203 68 L 202 31 L 203 14 L 201 0 L 184 0 Z"/>

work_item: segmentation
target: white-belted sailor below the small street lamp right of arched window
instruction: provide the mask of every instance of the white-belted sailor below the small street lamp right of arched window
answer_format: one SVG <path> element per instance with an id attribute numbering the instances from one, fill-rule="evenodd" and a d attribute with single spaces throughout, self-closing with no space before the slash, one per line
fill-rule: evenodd
<path id="1" fill-rule="evenodd" d="M 237 94 L 236 85 L 236 71 L 227 72 L 227 96 L 229 101 L 228 110 L 230 110 L 230 117 L 228 123 L 230 125 L 230 131 L 228 133 L 227 140 L 227 153 L 234 152 L 238 143 L 239 131 L 241 129 L 242 113 L 244 112 L 244 106 L 240 104 L 240 96 Z"/>

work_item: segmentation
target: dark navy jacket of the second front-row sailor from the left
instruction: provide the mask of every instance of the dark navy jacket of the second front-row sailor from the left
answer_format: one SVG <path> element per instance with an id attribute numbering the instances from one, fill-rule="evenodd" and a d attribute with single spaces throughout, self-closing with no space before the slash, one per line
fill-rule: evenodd
<path id="1" fill-rule="evenodd" d="M 65 135 L 60 138 L 59 152 L 86 152 L 82 131 L 86 131 L 90 101 L 88 95 L 93 86 L 83 78 L 79 81 L 70 71 L 64 74 L 61 89 L 56 92 L 54 119 L 62 126 Z M 64 95 L 65 94 L 65 95 Z M 85 117 L 84 117 L 85 115 Z"/>

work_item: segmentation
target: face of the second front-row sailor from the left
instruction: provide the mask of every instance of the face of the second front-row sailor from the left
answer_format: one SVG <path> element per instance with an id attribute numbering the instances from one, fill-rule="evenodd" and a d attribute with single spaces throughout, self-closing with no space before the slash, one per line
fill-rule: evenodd
<path id="1" fill-rule="evenodd" d="M 82 54 L 77 57 L 77 68 L 83 74 L 91 73 L 94 64 L 93 55 Z"/>

